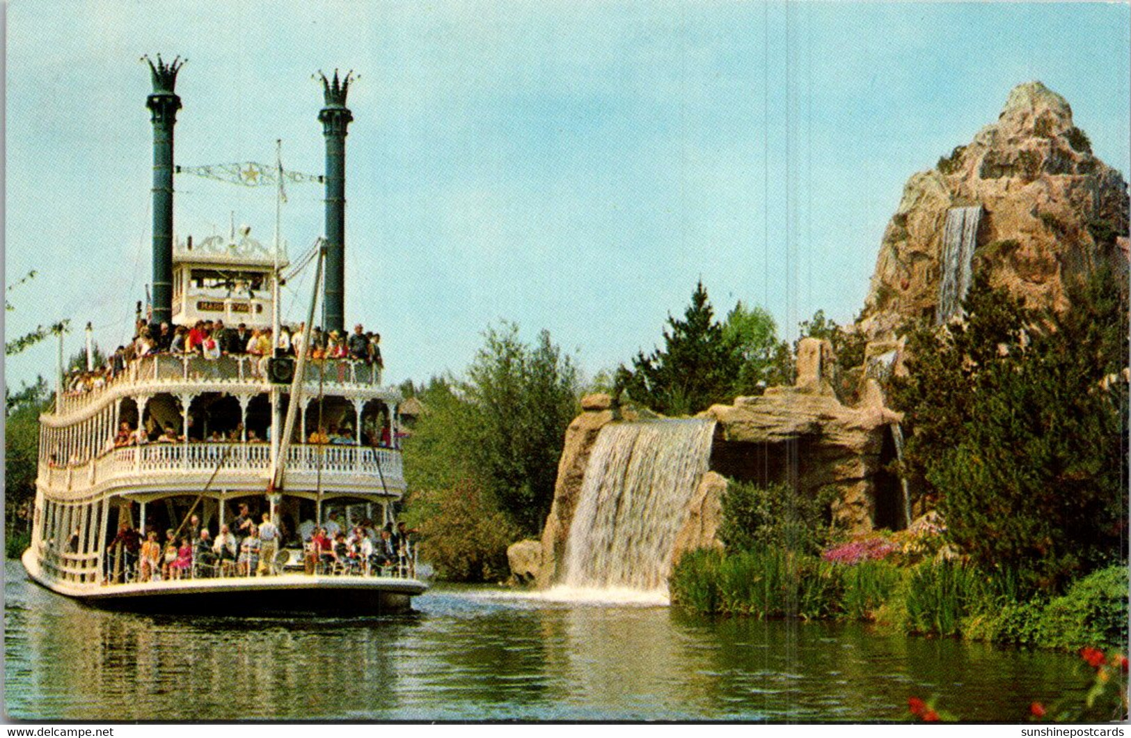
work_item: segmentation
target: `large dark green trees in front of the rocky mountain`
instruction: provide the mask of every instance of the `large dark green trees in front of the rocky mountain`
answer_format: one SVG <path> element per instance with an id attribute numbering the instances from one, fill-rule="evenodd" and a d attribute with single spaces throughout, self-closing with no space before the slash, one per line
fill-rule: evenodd
<path id="1" fill-rule="evenodd" d="M 1126 293 L 1097 273 L 1063 315 L 1033 316 L 978 277 L 967 319 L 920 326 L 893 401 L 906 472 L 987 568 L 1055 591 L 1126 560 Z M 1039 319 L 1038 319 L 1039 318 Z"/>

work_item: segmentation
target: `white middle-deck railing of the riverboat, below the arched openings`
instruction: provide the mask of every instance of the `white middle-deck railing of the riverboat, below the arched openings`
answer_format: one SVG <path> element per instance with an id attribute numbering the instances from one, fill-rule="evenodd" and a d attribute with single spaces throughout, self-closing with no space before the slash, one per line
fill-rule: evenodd
<path id="1" fill-rule="evenodd" d="M 370 478 L 377 484 L 404 478 L 400 453 L 392 448 L 300 444 L 287 452 L 290 472 Z M 211 473 L 217 466 L 231 472 L 262 475 L 270 467 L 270 446 L 265 443 L 146 444 L 112 448 L 94 460 L 69 466 L 45 465 L 41 481 L 49 489 L 87 488 L 114 478 L 162 473 Z"/>

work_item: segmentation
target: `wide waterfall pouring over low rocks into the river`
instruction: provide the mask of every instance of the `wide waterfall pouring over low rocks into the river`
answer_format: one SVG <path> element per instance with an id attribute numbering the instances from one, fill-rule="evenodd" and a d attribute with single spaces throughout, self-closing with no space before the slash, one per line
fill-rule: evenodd
<path id="1" fill-rule="evenodd" d="M 585 470 L 564 584 L 666 590 L 672 547 L 710 456 L 713 420 L 601 429 Z"/>

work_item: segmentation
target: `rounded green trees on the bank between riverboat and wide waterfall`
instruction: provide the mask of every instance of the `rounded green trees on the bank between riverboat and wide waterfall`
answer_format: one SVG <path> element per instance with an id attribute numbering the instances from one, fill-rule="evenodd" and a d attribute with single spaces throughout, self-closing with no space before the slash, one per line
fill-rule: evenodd
<path id="1" fill-rule="evenodd" d="M 549 333 L 527 345 L 504 324 L 485 332 L 466 378 L 414 387 L 425 412 L 404 449 L 409 520 L 443 574 L 494 578 L 507 544 L 539 533 L 577 385 L 573 362 Z"/>

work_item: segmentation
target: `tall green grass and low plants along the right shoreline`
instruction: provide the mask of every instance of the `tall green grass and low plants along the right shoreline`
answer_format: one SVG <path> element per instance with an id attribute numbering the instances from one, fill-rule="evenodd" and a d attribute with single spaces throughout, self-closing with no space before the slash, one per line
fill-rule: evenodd
<path id="1" fill-rule="evenodd" d="M 874 621 L 908 634 L 1078 649 L 1128 644 L 1128 569 L 1112 566 L 1059 598 L 1025 599 L 1008 572 L 960 561 L 855 565 L 770 548 L 694 551 L 672 603 L 710 615 Z"/>

